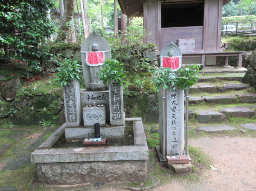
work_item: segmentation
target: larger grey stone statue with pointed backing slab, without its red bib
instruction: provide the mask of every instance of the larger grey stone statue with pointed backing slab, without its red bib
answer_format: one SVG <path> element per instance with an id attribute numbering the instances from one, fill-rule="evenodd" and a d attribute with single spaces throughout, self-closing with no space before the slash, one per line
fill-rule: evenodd
<path id="1" fill-rule="evenodd" d="M 101 80 L 98 79 L 97 73 L 100 72 L 101 65 L 89 66 L 86 63 L 86 58 L 88 58 L 88 52 L 93 50 L 93 44 L 96 44 L 97 51 L 104 53 L 105 60 L 111 60 L 110 46 L 106 39 L 98 35 L 95 31 L 87 37 L 81 45 L 81 60 L 82 69 L 84 74 L 84 82 L 86 89 L 90 91 L 101 91 L 108 89 L 108 85 L 104 85 Z"/>

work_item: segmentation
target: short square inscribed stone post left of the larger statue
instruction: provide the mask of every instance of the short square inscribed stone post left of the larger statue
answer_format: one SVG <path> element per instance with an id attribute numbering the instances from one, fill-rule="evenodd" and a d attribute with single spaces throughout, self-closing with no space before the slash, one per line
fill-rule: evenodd
<path id="1" fill-rule="evenodd" d="M 81 124 L 81 102 L 79 81 L 63 87 L 65 117 L 67 127 L 78 127 Z"/>

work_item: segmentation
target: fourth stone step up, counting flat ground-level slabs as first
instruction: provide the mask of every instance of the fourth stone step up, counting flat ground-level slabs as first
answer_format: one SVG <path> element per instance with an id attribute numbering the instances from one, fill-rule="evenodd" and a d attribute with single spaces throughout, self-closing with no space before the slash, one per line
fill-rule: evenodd
<path id="1" fill-rule="evenodd" d="M 217 92 L 224 92 L 229 90 L 242 90 L 251 88 L 251 86 L 247 84 L 225 84 L 224 86 L 214 86 L 211 84 L 205 84 L 205 83 L 197 83 L 190 87 L 190 93 L 201 93 L 201 92 L 207 92 L 207 93 L 217 93 Z"/>

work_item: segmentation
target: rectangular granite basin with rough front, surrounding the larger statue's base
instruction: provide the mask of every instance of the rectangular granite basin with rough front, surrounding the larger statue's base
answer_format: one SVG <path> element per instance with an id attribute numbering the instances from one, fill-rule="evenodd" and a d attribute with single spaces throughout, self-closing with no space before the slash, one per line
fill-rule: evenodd
<path id="1" fill-rule="evenodd" d="M 31 154 L 39 182 L 72 185 L 147 179 L 149 154 L 143 123 L 141 118 L 125 120 L 133 121 L 131 146 L 52 148 L 65 132 L 63 124 Z"/>

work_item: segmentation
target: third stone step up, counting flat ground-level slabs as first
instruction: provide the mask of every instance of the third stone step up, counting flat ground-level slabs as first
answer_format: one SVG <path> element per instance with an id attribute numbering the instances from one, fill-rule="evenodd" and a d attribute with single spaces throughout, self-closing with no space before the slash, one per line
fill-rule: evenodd
<path id="1" fill-rule="evenodd" d="M 248 94 L 235 94 L 235 95 L 219 95 L 219 96 L 201 96 L 188 98 L 188 104 L 194 103 L 222 103 L 222 104 L 233 104 L 233 103 L 256 103 L 256 93 Z"/>

